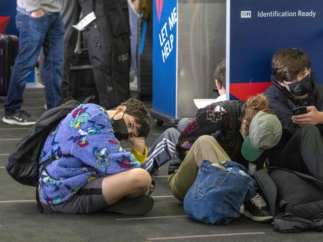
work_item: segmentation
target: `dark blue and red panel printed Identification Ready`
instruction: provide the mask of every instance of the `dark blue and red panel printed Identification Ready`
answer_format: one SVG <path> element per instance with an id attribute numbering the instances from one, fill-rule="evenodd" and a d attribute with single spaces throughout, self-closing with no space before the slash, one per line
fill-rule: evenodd
<path id="1" fill-rule="evenodd" d="M 255 94 L 252 89 L 263 91 L 270 84 L 272 56 L 285 48 L 303 49 L 311 59 L 311 71 L 323 83 L 322 1 L 231 0 L 228 4 L 230 99 L 245 99 Z"/>

